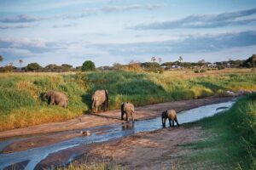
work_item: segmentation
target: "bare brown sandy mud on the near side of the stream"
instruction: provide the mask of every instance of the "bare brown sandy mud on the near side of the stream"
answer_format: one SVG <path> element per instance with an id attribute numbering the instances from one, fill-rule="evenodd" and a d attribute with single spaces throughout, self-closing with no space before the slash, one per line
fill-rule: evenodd
<path id="1" fill-rule="evenodd" d="M 180 157 L 192 151 L 184 149 L 183 145 L 200 141 L 203 136 L 201 127 L 168 127 L 137 133 L 124 139 L 61 150 L 39 162 L 36 169 L 56 166 L 56 162 L 67 162 L 65 156 L 77 151 L 80 156 L 74 158 L 74 165 L 107 162 L 125 169 L 170 169 L 179 165 Z"/>

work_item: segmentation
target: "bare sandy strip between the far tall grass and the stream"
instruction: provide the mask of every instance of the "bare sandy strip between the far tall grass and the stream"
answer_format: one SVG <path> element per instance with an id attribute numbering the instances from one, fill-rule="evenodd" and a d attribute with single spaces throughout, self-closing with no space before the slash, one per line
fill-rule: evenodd
<path id="1" fill-rule="evenodd" d="M 228 98 L 206 98 L 206 99 L 189 99 L 182 101 L 166 102 L 154 105 L 145 105 L 136 107 L 135 120 L 145 120 L 160 116 L 162 111 L 174 109 L 175 111 L 186 111 L 201 105 L 210 105 L 222 103 L 232 99 Z M 38 133 L 54 133 L 67 130 L 83 129 L 87 127 L 96 127 L 102 125 L 124 122 L 120 120 L 120 111 L 106 111 L 97 114 L 85 114 L 66 122 L 50 122 L 32 127 L 22 127 L 13 130 L 0 132 L 0 141 L 15 136 L 32 135 Z M 64 134 L 62 136 L 65 136 Z M 58 138 L 60 139 L 60 138 Z"/>

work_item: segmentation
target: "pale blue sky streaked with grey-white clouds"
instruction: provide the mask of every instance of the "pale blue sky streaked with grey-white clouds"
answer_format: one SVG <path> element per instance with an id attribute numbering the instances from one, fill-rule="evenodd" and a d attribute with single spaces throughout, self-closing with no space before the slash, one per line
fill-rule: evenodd
<path id="1" fill-rule="evenodd" d="M 0 0 L 0 66 L 256 54 L 255 0 Z"/>

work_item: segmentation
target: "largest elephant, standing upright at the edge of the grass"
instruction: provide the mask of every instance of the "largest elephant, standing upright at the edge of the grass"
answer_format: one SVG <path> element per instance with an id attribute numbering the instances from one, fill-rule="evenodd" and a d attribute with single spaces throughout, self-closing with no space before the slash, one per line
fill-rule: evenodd
<path id="1" fill-rule="evenodd" d="M 104 104 L 104 111 L 108 111 L 108 90 L 96 90 L 92 95 L 91 100 L 92 112 L 96 113 L 102 104 Z"/>

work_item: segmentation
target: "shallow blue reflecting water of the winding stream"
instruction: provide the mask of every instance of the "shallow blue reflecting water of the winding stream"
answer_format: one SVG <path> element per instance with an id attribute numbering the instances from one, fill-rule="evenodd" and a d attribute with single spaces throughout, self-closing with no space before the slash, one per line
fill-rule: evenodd
<path id="1" fill-rule="evenodd" d="M 224 111 L 231 107 L 234 101 L 229 101 L 214 105 L 205 105 L 189 111 L 181 111 L 177 114 L 177 120 L 180 124 L 186 122 L 195 122 L 203 117 L 212 116 L 219 111 Z M 166 123 L 166 126 L 169 123 Z M 133 133 L 148 132 L 162 128 L 161 118 L 130 122 L 130 123 L 116 123 L 112 125 L 102 127 L 90 127 L 82 129 L 83 131 L 89 130 L 90 136 L 80 136 L 77 138 L 69 139 L 61 143 L 51 144 L 43 147 L 32 148 L 29 150 L 17 151 L 9 154 L 0 154 L 0 169 L 8 167 L 11 164 L 28 161 L 25 169 L 33 169 L 36 165 L 44 160 L 45 157 L 51 153 L 55 153 L 59 150 L 65 150 L 78 146 L 80 144 L 90 144 L 96 142 L 104 142 L 111 139 L 119 139 Z M 68 133 L 79 133 L 80 130 L 68 131 Z M 26 138 L 27 139 L 27 138 Z M 9 139 L 0 143 L 0 149 L 17 140 L 22 139 Z M 75 156 L 70 156 L 69 161 L 72 161 Z M 67 162 L 66 162 L 67 163 Z"/>

